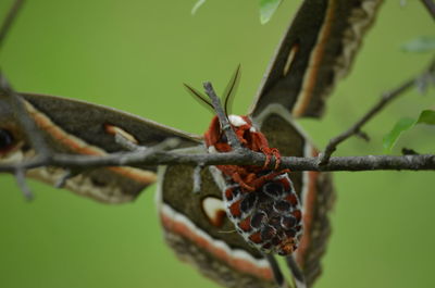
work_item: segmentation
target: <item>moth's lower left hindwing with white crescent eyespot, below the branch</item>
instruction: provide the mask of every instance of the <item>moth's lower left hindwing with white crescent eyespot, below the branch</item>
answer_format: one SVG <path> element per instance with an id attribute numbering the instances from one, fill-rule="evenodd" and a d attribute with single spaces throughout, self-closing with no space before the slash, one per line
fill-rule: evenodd
<path id="1" fill-rule="evenodd" d="M 159 171 L 157 200 L 167 245 L 181 260 L 224 287 L 275 288 L 268 260 L 226 216 L 213 167 L 201 171 L 199 192 L 194 192 L 192 175 L 194 167 L 186 165 Z"/>

